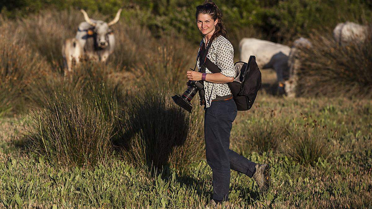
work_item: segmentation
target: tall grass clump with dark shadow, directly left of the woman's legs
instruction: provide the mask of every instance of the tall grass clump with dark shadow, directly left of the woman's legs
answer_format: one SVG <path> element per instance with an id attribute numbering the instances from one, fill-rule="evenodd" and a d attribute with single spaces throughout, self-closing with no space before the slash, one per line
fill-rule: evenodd
<path id="1" fill-rule="evenodd" d="M 171 93 L 138 92 L 125 103 L 122 132 L 117 142 L 123 157 L 134 165 L 162 169 L 169 163 L 183 170 L 203 156 L 201 111 L 186 113 L 174 104 Z"/>

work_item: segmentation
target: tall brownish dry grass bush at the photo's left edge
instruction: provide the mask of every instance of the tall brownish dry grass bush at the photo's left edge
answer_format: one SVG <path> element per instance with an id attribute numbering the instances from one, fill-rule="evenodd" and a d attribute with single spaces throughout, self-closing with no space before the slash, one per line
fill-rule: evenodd
<path id="1" fill-rule="evenodd" d="M 49 66 L 17 35 L 20 30 L 16 25 L 2 22 L 0 30 L 0 115 L 3 115 L 26 109 L 31 87 L 48 73 Z"/>

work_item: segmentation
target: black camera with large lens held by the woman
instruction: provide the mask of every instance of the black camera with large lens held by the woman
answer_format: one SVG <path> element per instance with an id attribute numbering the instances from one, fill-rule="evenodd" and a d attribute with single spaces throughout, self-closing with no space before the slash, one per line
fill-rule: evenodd
<path id="1" fill-rule="evenodd" d="M 204 85 L 200 81 L 188 81 L 187 82 L 187 90 L 180 96 L 179 94 L 176 94 L 172 96 L 173 101 L 183 109 L 187 110 L 187 112 L 191 113 L 192 106 L 191 106 L 191 100 L 194 98 L 195 94 L 198 93 L 198 91 L 202 90 L 204 88 Z"/>

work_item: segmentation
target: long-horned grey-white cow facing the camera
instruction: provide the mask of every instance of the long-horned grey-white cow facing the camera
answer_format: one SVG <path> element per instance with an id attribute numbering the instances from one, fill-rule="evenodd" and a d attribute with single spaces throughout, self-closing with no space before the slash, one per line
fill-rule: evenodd
<path id="1" fill-rule="evenodd" d="M 85 22 L 80 23 L 75 38 L 67 39 L 62 46 L 65 75 L 71 72 L 73 65 L 78 64 L 81 57 L 106 62 L 115 46 L 115 37 L 109 27 L 119 21 L 122 9 L 119 9 L 109 23 L 90 19 L 83 9 L 80 11 Z"/>

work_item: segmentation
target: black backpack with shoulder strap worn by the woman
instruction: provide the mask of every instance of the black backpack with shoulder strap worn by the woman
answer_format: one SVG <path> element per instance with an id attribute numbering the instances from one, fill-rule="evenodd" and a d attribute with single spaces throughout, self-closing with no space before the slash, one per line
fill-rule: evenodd
<path id="1" fill-rule="evenodd" d="M 221 69 L 217 67 L 208 57 L 206 57 L 211 44 L 206 47 L 206 53 L 202 59 L 205 60 L 203 67 L 208 68 L 212 73 L 219 73 Z M 198 55 L 199 57 L 199 55 Z M 203 68 L 205 72 L 205 68 Z M 232 98 L 240 111 L 249 110 L 253 106 L 254 100 L 256 99 L 257 92 L 261 88 L 261 71 L 256 63 L 256 57 L 251 55 L 249 57 L 248 63 L 246 62 L 235 62 L 235 70 L 237 71 L 237 76 L 234 81 L 228 83 Z"/>

